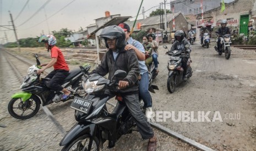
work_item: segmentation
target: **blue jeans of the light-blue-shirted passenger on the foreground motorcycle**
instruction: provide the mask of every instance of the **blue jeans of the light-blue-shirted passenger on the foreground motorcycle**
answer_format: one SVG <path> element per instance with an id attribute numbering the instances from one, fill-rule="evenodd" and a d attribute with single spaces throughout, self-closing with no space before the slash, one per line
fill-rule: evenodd
<path id="1" fill-rule="evenodd" d="M 149 93 L 149 73 L 145 72 L 140 75 L 139 81 L 139 96 L 144 102 L 144 107 L 152 107 L 152 100 Z"/>

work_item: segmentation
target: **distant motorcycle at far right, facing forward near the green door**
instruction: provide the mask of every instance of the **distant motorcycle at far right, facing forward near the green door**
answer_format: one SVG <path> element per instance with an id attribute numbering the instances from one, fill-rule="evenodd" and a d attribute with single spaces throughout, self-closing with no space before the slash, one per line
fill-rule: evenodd
<path id="1" fill-rule="evenodd" d="M 219 32 L 216 31 L 217 34 L 220 34 Z M 217 41 L 216 41 L 217 42 Z M 231 49 L 230 49 L 230 44 L 231 44 L 231 35 L 230 34 L 220 34 L 220 51 L 218 51 L 217 46 L 215 46 L 215 50 L 219 53 L 219 55 L 222 55 L 222 53 L 225 53 L 225 58 L 230 59 L 231 55 Z"/>

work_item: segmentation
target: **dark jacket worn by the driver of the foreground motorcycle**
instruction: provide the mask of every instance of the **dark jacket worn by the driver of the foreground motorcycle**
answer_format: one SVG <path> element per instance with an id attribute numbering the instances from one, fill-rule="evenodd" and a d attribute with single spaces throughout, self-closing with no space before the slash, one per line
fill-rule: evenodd
<path id="1" fill-rule="evenodd" d="M 116 61 L 113 57 L 113 51 L 108 50 L 101 60 L 101 63 L 91 73 L 97 73 L 104 76 L 108 73 L 108 79 L 113 77 L 114 73 L 121 69 L 127 72 L 124 81 L 129 83 L 128 88 L 122 89 L 119 92 L 132 94 L 138 92 L 138 77 L 140 74 L 139 62 L 134 50 L 124 50 L 124 47 L 119 50 Z"/>

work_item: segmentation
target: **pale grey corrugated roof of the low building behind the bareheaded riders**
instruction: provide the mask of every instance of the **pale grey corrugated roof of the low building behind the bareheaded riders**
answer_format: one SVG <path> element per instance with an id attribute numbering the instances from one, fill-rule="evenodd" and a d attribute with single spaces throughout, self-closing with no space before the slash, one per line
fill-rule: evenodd
<path id="1" fill-rule="evenodd" d="M 180 13 L 181 12 L 167 14 L 167 22 L 170 22 L 173 18 L 175 18 Z M 160 15 L 152 16 L 152 17 L 145 18 L 143 21 L 141 21 L 141 26 L 156 25 L 156 24 L 160 24 L 160 23 L 161 23 Z"/>

